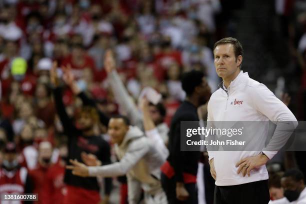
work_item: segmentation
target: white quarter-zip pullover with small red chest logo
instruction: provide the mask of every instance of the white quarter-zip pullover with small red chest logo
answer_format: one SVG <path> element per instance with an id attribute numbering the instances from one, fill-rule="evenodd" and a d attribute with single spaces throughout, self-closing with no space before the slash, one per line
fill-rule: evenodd
<path id="1" fill-rule="evenodd" d="M 239 103 L 239 105 L 237 105 Z M 210 97 L 208 102 L 209 121 L 273 121 L 277 123 L 281 121 L 293 121 L 292 128 L 297 126 L 297 121 L 288 107 L 280 101 L 264 84 L 249 78 L 247 72 L 240 73 L 230 82 L 229 86 L 219 88 Z M 275 132 L 276 132 L 275 130 Z M 268 122 L 266 127 L 258 129 L 254 134 L 259 137 L 258 141 L 266 139 L 268 131 Z M 255 156 L 262 150 L 269 159 L 271 159 L 277 151 L 274 146 L 283 145 L 290 136 L 287 132 L 273 134 L 270 142 L 265 148 L 258 151 L 208 151 L 209 160 L 213 159 L 216 171 L 216 185 L 237 185 L 258 180 L 268 179 L 268 172 L 265 165 L 258 169 L 252 169 L 250 176 L 237 174 L 235 164 L 242 158 Z M 250 132 L 252 134 L 252 132 Z M 258 142 L 262 144 L 262 142 Z M 271 148 L 271 146 L 273 146 Z M 281 147 L 280 146 L 280 147 Z M 268 148 L 270 147 L 270 148 Z M 280 148 L 279 147 L 279 148 Z M 273 151 L 267 150 L 273 149 Z M 278 150 L 278 149 L 277 149 Z"/>

